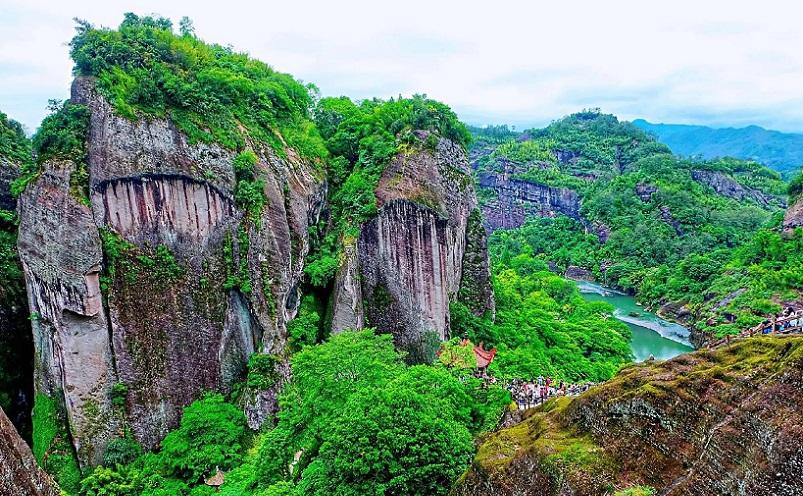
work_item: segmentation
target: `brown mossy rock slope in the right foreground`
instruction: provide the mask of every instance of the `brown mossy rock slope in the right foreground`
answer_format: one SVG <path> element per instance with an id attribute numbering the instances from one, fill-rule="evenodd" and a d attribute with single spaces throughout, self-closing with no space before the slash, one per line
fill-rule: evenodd
<path id="1" fill-rule="evenodd" d="M 484 440 L 456 495 L 803 494 L 803 338 L 632 365 Z"/>

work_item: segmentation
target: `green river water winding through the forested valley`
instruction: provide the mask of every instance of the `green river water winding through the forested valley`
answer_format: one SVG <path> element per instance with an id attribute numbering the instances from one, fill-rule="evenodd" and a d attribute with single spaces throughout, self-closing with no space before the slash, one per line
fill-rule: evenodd
<path id="1" fill-rule="evenodd" d="M 649 358 L 659 360 L 692 351 L 689 330 L 680 324 L 668 322 L 636 305 L 636 300 L 598 284 L 577 281 L 583 297 L 589 301 L 605 301 L 614 307 L 614 317 L 621 320 L 632 332 L 630 347 L 636 361 Z"/>

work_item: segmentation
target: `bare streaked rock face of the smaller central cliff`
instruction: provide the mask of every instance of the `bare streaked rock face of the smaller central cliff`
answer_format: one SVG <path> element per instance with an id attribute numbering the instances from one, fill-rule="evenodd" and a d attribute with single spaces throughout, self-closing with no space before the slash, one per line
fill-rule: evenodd
<path id="1" fill-rule="evenodd" d="M 417 346 L 449 336 L 449 303 L 493 313 L 488 257 L 465 152 L 441 139 L 400 154 L 376 190 L 378 215 L 346 243 L 333 294 L 333 331 L 362 326 Z"/>

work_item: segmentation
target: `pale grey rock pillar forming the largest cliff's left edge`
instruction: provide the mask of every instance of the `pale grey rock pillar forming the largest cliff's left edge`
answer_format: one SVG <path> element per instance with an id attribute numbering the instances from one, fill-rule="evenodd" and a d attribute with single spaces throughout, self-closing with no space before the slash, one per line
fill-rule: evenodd
<path id="1" fill-rule="evenodd" d="M 90 209 L 70 194 L 72 162 L 47 162 L 20 198 L 18 247 L 36 348 L 36 391 L 67 411 L 79 461 L 98 463 L 116 427 L 115 382 Z"/>

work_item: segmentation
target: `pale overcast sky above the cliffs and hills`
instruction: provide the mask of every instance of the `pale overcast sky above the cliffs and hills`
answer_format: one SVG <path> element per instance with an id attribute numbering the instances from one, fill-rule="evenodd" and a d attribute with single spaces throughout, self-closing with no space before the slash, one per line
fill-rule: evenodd
<path id="1" fill-rule="evenodd" d="M 426 93 L 471 124 L 623 119 L 803 132 L 803 10 L 793 0 L 0 0 L 0 110 L 35 130 L 68 97 L 73 17 L 181 16 L 352 98 Z"/>

